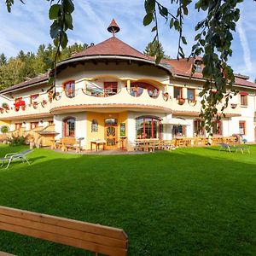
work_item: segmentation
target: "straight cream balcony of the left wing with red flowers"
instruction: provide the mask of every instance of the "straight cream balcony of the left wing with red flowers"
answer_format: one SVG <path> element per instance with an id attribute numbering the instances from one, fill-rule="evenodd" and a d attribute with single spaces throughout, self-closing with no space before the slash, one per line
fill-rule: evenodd
<path id="1" fill-rule="evenodd" d="M 50 116 L 49 113 L 50 103 L 47 101 L 35 102 L 33 104 L 20 104 L 13 108 L 1 108 L 0 109 L 0 119 L 25 119 L 26 117 L 43 118 Z"/>

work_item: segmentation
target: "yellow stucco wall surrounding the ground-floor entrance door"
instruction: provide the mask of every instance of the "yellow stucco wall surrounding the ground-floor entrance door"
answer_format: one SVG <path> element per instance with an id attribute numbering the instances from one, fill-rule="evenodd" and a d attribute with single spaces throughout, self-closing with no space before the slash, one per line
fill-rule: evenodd
<path id="1" fill-rule="evenodd" d="M 117 128 L 117 137 L 119 140 L 120 137 L 120 123 L 125 123 L 125 136 L 127 137 L 127 112 L 121 113 L 96 113 L 96 112 L 87 112 L 87 121 L 86 121 L 86 143 L 85 149 L 90 149 L 90 142 L 96 139 L 105 139 L 105 126 L 104 126 L 104 119 L 118 119 L 118 128 Z M 91 121 L 92 119 L 96 119 L 98 122 L 98 131 L 91 132 Z M 119 147 L 119 144 L 118 144 Z"/>

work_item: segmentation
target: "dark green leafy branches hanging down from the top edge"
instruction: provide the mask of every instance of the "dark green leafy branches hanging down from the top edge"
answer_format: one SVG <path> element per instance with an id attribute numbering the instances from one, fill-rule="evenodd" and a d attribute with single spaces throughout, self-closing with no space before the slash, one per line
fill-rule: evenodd
<path id="1" fill-rule="evenodd" d="M 47 0 L 49 1 L 49 0 Z M 255 1 L 255 0 L 254 0 Z M 6 0 L 7 9 L 10 11 L 15 0 Z M 23 3 L 22 0 L 20 0 Z M 49 19 L 53 20 L 50 26 L 50 36 L 54 40 L 55 52 L 55 76 L 56 61 L 60 55 L 61 47 L 67 47 L 67 30 L 73 29 L 73 0 L 50 0 Z M 224 108 L 227 108 L 232 93 L 236 94 L 232 84 L 235 81 L 234 73 L 228 64 L 229 57 L 232 55 L 231 42 L 233 40 L 232 32 L 236 32 L 236 22 L 240 18 L 240 9 L 238 3 L 243 0 L 196 0 L 195 9 L 204 12 L 205 18 L 200 20 L 195 26 L 195 44 L 192 47 L 190 56 L 196 57 L 202 55 L 204 65 L 202 74 L 205 79 L 203 90 L 200 93 L 201 100 L 201 118 L 205 120 L 207 131 L 211 130 L 212 120 L 219 120 L 224 115 Z M 152 32 L 155 32 L 154 41 L 160 45 L 158 33 L 159 16 L 166 20 L 171 29 L 177 31 L 179 42 L 177 47 L 177 58 L 184 58 L 183 44 L 187 44 L 183 35 L 184 16 L 189 15 L 189 4 L 192 0 L 171 0 L 168 8 L 160 3 L 160 0 L 144 0 L 146 15 L 143 24 L 148 26 L 154 24 Z M 171 9 L 174 11 L 172 12 Z M 161 60 L 160 50 L 157 50 L 156 63 Z M 192 69 L 195 72 L 195 66 Z M 54 83 L 52 78 L 49 82 Z M 212 93 L 217 90 L 217 93 Z M 224 99 L 222 113 L 218 113 L 217 105 Z"/>

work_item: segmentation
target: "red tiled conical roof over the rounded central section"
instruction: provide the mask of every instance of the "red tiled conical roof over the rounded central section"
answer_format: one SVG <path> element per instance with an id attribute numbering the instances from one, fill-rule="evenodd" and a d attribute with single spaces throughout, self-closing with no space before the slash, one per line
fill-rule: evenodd
<path id="1" fill-rule="evenodd" d="M 132 48 L 130 45 L 125 44 L 123 41 L 119 40 L 119 38 L 115 37 L 108 38 L 100 44 L 84 49 L 83 51 L 72 55 L 71 58 L 89 55 L 122 55 L 152 61 L 151 57 L 144 55 L 137 49 Z"/>

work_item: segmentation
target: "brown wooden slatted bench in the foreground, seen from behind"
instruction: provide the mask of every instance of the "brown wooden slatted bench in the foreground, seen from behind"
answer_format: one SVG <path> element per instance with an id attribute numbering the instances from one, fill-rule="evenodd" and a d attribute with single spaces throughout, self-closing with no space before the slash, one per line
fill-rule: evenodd
<path id="1" fill-rule="evenodd" d="M 96 255 L 127 255 L 125 232 L 100 224 L 0 207 L 0 230 L 79 247 Z"/>

